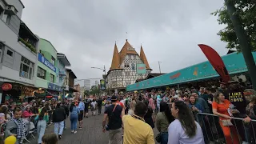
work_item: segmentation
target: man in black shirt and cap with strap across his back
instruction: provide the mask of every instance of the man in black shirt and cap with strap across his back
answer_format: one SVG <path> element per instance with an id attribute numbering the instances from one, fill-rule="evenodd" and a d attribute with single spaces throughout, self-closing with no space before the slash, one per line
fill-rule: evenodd
<path id="1" fill-rule="evenodd" d="M 116 96 L 111 97 L 111 105 L 106 109 L 102 122 L 102 131 L 106 132 L 109 128 L 109 143 L 122 144 L 122 106 L 117 103 Z M 106 119 L 108 124 L 106 125 Z"/>

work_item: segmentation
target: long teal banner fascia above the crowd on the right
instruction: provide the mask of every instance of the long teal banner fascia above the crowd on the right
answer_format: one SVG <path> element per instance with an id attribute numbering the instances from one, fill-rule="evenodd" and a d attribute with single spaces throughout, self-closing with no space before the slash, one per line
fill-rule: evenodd
<path id="1" fill-rule="evenodd" d="M 254 61 L 256 62 L 256 52 L 252 53 Z M 229 74 L 238 74 L 247 71 L 246 62 L 242 54 L 227 54 L 222 56 L 222 60 L 228 70 Z M 158 86 L 171 86 L 185 82 L 194 82 L 206 78 L 218 77 L 218 73 L 211 66 L 209 61 L 198 63 L 194 66 L 186 67 L 182 70 L 177 70 L 169 74 L 150 78 L 142 82 L 137 82 L 132 85 L 126 86 L 127 91 L 143 90 L 154 88 Z"/>

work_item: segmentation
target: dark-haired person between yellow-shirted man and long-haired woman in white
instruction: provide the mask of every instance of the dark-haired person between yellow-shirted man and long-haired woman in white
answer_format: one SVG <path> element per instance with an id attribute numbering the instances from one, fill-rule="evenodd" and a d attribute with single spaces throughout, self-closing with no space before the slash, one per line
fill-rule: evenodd
<path id="1" fill-rule="evenodd" d="M 170 114 L 170 108 L 166 102 L 160 102 L 160 112 L 156 117 L 156 126 L 160 133 L 160 143 L 167 144 L 168 142 L 168 126 L 174 121 L 174 116 Z"/>

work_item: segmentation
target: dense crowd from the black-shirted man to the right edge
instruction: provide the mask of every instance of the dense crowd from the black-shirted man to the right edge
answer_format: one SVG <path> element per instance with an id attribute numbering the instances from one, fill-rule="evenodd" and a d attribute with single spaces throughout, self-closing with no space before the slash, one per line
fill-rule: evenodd
<path id="1" fill-rule="evenodd" d="M 239 82 L 114 94 L 110 100 L 102 122 L 109 143 L 255 143 L 256 93 Z"/>

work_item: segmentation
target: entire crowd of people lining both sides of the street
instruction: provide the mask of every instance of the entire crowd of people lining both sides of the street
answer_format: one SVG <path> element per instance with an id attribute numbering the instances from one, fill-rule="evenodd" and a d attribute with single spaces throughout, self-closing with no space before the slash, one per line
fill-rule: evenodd
<path id="1" fill-rule="evenodd" d="M 103 98 L 52 99 L 7 102 L 0 109 L 2 143 L 14 136 L 16 143 L 38 134 L 44 139 L 61 139 L 66 121 L 72 134 L 83 128 L 83 118 L 102 113 L 102 131 L 109 131 L 109 143 L 176 144 L 224 142 L 256 143 L 256 92 L 238 82 L 221 82 L 219 87 L 180 88 L 113 94 Z M 45 135 L 54 124 L 54 134 Z M 158 134 L 154 135 L 154 128 Z M 52 140 L 57 143 L 57 141 Z M 53 143 L 53 144 L 55 144 Z M 52 143 L 49 143 L 52 144 Z"/>

